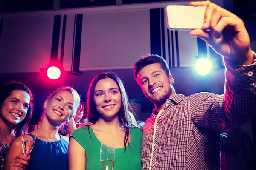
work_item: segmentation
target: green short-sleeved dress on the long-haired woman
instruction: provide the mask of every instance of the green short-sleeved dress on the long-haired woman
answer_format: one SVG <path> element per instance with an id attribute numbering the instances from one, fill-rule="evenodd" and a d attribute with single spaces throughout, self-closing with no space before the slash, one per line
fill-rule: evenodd
<path id="1" fill-rule="evenodd" d="M 88 131 L 89 127 L 89 131 Z M 90 126 L 76 129 L 72 136 L 84 147 L 86 156 L 86 170 L 101 170 L 100 145 Z M 141 137 L 142 131 L 138 128 L 131 128 L 130 147 L 126 150 L 118 148 L 115 150 L 114 170 L 141 170 Z M 90 137 L 91 136 L 91 137 Z M 125 150 L 125 151 L 124 151 Z"/>

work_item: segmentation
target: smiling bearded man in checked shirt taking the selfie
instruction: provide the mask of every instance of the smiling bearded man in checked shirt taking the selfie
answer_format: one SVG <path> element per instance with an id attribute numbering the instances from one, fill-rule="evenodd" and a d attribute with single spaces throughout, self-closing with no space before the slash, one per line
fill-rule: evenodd
<path id="1" fill-rule="evenodd" d="M 155 105 L 143 127 L 143 170 L 218 170 L 220 131 L 256 116 L 256 57 L 243 21 L 209 1 L 189 5 L 207 6 L 203 27 L 190 35 L 224 56 L 225 93 L 176 95 L 162 57 L 136 62 L 134 79 Z"/>

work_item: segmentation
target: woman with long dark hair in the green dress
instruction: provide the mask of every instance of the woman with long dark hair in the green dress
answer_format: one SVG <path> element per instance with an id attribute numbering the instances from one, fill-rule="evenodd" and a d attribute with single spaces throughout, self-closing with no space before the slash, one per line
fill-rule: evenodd
<path id="1" fill-rule="evenodd" d="M 114 170 L 141 170 L 142 131 L 137 127 L 124 85 L 113 73 L 98 74 L 87 92 L 91 125 L 70 136 L 70 170 L 101 170 L 101 143 L 115 144 Z"/>

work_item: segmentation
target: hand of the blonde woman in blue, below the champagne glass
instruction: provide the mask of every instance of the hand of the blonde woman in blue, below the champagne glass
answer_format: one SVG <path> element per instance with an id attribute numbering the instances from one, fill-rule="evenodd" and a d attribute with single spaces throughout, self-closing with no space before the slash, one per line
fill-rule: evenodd
<path id="1" fill-rule="evenodd" d="M 10 162 L 10 170 L 23 170 L 24 167 L 29 166 L 29 159 L 30 155 L 28 157 L 24 156 L 23 154 L 16 156 Z"/>

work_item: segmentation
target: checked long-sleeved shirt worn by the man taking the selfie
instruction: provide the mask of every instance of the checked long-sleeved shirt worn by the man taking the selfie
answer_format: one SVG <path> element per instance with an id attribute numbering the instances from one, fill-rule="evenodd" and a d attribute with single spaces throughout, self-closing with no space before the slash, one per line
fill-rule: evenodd
<path id="1" fill-rule="evenodd" d="M 220 131 L 256 116 L 256 60 L 226 62 L 225 93 L 175 95 L 143 127 L 143 170 L 218 170 Z"/>

